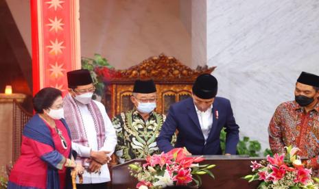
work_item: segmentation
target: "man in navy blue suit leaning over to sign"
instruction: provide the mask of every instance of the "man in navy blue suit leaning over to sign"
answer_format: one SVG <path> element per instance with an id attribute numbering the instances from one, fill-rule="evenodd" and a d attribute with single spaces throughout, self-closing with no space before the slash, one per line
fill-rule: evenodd
<path id="1" fill-rule="evenodd" d="M 220 131 L 225 127 L 225 155 L 236 154 L 239 126 L 231 102 L 217 95 L 217 79 L 210 74 L 197 77 L 192 98 L 169 108 L 166 121 L 157 138 L 161 151 L 174 149 L 170 141 L 178 130 L 175 147 L 185 147 L 189 155 L 221 155 Z"/>

